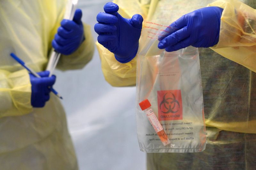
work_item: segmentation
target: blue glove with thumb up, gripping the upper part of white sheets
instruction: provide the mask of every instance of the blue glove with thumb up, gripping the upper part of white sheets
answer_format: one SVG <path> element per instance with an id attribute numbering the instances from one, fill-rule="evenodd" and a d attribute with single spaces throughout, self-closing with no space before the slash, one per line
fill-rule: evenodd
<path id="1" fill-rule="evenodd" d="M 61 21 L 61 26 L 58 28 L 58 32 L 52 40 L 52 47 L 57 52 L 64 55 L 70 55 L 82 44 L 85 38 L 84 26 L 81 18 L 82 11 L 77 9 L 73 21 L 68 19 L 63 19 Z"/>

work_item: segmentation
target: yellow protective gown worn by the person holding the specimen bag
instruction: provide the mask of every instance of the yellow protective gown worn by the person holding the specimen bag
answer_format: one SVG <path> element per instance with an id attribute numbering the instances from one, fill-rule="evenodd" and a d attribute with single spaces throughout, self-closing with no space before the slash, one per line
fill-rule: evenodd
<path id="1" fill-rule="evenodd" d="M 126 18 L 139 13 L 144 21 L 166 23 L 166 18 L 169 18 L 170 24 L 182 15 L 207 5 L 224 9 L 220 40 L 212 47 L 217 53 L 210 48 L 199 48 L 207 126 L 206 149 L 200 153 L 148 153 L 148 170 L 255 169 L 255 1 L 116 0 L 114 3 L 119 5 L 120 14 Z M 112 86 L 134 85 L 136 57 L 122 64 L 107 49 L 96 44 L 105 79 Z M 140 43 L 140 46 L 144 45 Z"/>

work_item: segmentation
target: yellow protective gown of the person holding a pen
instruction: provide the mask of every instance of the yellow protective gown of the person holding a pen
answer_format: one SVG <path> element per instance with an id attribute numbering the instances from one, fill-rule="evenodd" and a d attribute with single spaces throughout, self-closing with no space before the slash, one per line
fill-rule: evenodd
<path id="1" fill-rule="evenodd" d="M 60 100 L 51 94 L 44 108 L 32 108 L 28 72 L 10 57 L 10 53 L 16 53 L 29 67 L 43 71 L 66 3 L 0 3 L 0 169 L 77 169 Z M 94 46 L 87 25 L 84 35 L 86 39 L 76 52 L 61 56 L 59 69 L 79 69 L 91 60 Z"/>

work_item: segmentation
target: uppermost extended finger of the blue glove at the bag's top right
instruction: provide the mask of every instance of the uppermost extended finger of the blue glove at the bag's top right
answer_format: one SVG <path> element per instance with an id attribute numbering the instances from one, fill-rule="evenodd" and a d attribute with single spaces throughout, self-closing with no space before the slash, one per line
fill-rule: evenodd
<path id="1" fill-rule="evenodd" d="M 187 20 L 186 16 L 183 15 L 182 17 L 174 21 L 171 25 L 169 25 L 163 32 L 161 32 L 161 35 L 158 36 L 158 40 L 161 41 L 168 35 L 171 35 L 173 32 L 180 30 L 185 26 L 187 26 Z"/>

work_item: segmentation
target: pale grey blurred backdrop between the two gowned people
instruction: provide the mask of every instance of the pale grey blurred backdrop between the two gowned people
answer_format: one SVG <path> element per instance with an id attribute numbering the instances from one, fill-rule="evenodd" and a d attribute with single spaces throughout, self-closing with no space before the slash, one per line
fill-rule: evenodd
<path id="1" fill-rule="evenodd" d="M 91 25 L 109 0 L 79 0 L 83 21 Z M 68 128 L 80 170 L 145 170 L 135 118 L 135 87 L 110 86 L 101 71 L 99 53 L 82 70 L 55 71 L 54 88 L 63 96 Z"/>

